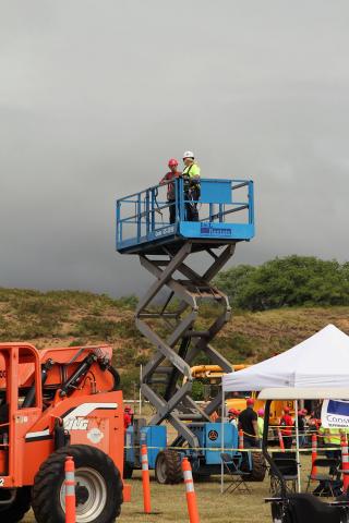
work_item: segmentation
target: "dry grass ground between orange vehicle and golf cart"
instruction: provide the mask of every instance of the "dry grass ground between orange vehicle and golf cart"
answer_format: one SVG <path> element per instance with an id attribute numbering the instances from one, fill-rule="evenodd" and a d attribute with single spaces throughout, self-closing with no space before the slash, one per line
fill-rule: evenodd
<path id="1" fill-rule="evenodd" d="M 302 455 L 302 488 L 305 489 L 305 478 L 310 469 L 310 457 Z M 228 481 L 228 477 L 226 477 Z M 263 483 L 250 483 L 251 495 L 220 494 L 220 478 L 213 477 L 206 483 L 196 483 L 195 491 L 200 510 L 201 523 L 270 523 L 270 507 L 264 503 L 269 496 L 269 478 L 266 475 Z M 132 502 L 124 503 L 118 521 L 122 523 L 182 523 L 188 522 L 184 485 L 158 485 L 153 478 L 152 514 L 143 513 L 142 481 L 137 471 L 132 485 Z M 24 520 L 34 523 L 33 514 Z"/>

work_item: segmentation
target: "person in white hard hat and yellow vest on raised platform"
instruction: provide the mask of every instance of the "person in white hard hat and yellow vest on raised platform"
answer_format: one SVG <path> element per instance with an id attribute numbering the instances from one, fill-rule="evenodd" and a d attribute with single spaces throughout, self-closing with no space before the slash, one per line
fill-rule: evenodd
<path id="1" fill-rule="evenodd" d="M 201 170 L 195 162 L 194 153 L 185 150 L 183 154 L 184 169 L 182 177 L 184 179 L 184 198 L 185 198 L 185 220 L 198 221 L 197 202 L 200 198 L 200 175 Z"/>

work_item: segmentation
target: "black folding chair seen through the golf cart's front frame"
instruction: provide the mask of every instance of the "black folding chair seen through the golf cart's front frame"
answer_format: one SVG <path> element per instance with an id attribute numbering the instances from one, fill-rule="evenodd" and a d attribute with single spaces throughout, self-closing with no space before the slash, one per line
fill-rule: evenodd
<path id="1" fill-rule="evenodd" d="M 282 479 L 286 483 L 287 492 L 296 492 L 297 490 L 297 455 L 296 452 L 274 452 L 273 461 L 280 471 Z M 281 494 L 281 481 L 274 473 L 273 469 L 269 470 L 270 476 L 270 494 L 272 496 L 280 496 Z"/>

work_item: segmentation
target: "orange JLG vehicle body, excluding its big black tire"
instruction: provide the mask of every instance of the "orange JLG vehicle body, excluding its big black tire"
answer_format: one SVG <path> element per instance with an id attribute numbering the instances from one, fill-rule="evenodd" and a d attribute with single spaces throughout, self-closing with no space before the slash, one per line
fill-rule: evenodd
<path id="1" fill-rule="evenodd" d="M 111 356 L 108 345 L 37 351 L 31 344 L 0 343 L 0 487 L 33 485 L 57 448 L 58 431 L 69 445 L 106 452 L 122 475 L 122 392 L 113 390 Z M 88 368 L 64 392 L 86 357 L 92 358 Z"/>

